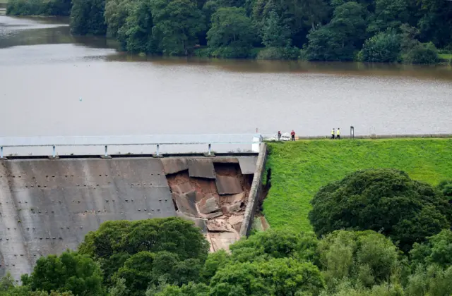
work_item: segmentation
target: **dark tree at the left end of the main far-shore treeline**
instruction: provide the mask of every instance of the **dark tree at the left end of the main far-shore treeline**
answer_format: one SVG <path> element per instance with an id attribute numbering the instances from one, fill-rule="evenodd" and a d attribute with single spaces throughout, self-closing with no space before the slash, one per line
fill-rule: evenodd
<path id="1" fill-rule="evenodd" d="M 71 33 L 105 35 L 105 0 L 72 0 Z"/>

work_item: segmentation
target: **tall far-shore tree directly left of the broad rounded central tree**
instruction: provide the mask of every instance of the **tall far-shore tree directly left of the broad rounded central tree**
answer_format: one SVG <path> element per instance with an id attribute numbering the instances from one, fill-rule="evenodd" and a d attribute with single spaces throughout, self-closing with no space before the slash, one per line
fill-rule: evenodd
<path id="1" fill-rule="evenodd" d="M 163 54 L 188 55 L 205 29 L 203 15 L 194 0 L 152 0 L 153 35 Z"/>

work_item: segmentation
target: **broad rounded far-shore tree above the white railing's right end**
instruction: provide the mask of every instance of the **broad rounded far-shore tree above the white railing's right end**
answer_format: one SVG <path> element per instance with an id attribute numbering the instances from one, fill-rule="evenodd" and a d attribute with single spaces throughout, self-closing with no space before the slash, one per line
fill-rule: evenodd
<path id="1" fill-rule="evenodd" d="M 246 58 L 255 34 L 244 8 L 218 8 L 212 16 L 212 27 L 207 32 L 208 46 L 215 56 Z"/>

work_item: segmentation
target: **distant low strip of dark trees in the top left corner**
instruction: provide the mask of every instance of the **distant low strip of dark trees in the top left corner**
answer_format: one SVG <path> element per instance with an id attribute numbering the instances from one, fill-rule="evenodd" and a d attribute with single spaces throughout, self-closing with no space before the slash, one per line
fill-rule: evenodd
<path id="1" fill-rule="evenodd" d="M 71 0 L 8 0 L 11 16 L 69 16 Z"/>

